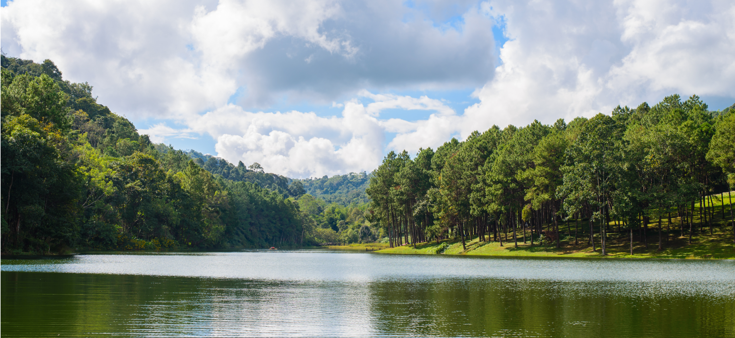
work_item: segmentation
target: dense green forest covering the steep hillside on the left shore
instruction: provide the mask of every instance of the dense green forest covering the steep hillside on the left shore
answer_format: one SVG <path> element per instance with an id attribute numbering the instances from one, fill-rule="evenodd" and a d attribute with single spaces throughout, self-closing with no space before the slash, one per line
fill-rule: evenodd
<path id="1" fill-rule="evenodd" d="M 51 60 L 1 65 L 3 253 L 360 240 L 365 204 L 318 200 L 257 163 L 152 144 Z"/>

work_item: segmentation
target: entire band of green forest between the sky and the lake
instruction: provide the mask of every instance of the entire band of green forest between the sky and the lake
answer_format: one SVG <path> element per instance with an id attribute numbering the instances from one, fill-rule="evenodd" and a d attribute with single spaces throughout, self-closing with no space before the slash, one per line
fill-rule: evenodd
<path id="1" fill-rule="evenodd" d="M 696 96 L 493 126 L 413 159 L 391 152 L 372 173 L 289 179 L 151 143 L 51 60 L 1 59 L 3 254 L 448 241 L 477 253 L 478 243 L 521 248 L 524 234 L 561 249 L 577 223 L 577 245 L 592 232 L 597 252 L 625 231 L 650 245 L 669 215 L 687 245 L 709 229 L 700 223 L 732 242 L 709 196 L 733 185 L 733 115 Z"/>

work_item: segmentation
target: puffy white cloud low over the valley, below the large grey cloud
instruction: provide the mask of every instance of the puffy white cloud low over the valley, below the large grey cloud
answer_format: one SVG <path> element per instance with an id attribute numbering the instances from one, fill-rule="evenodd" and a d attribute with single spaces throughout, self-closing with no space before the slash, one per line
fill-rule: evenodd
<path id="1" fill-rule="evenodd" d="M 229 104 L 190 121 L 188 130 L 215 137 L 218 156 L 230 162 L 258 162 L 265 170 L 290 177 L 320 177 L 373 170 L 383 157 L 386 132 L 397 132 L 398 137 L 403 137 L 426 124 L 380 119 L 381 110 L 421 109 L 437 116 L 455 116 L 441 101 L 426 97 L 376 95 L 368 91 L 361 96 L 373 102 L 346 101 L 340 117 L 298 111 L 247 112 Z M 168 129 L 162 131 L 172 133 Z M 436 145 L 445 138 L 442 133 L 427 136 L 401 146 L 411 145 L 414 148 L 409 149 L 415 151 L 427 146 L 422 141 Z"/>

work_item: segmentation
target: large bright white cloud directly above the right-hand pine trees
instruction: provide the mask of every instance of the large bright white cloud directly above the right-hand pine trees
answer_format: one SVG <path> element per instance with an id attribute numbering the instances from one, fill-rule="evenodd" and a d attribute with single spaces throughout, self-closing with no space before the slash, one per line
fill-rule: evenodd
<path id="1" fill-rule="evenodd" d="M 465 110 L 462 135 L 492 123 L 609 113 L 663 96 L 735 102 L 732 1 L 490 1 L 506 21 L 503 64 Z"/>

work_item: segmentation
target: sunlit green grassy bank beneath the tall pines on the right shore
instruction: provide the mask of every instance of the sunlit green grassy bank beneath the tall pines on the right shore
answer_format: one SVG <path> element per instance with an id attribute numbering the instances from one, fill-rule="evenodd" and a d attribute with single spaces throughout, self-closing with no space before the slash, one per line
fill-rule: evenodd
<path id="1" fill-rule="evenodd" d="M 729 240 L 732 234 L 730 217 L 728 217 L 731 206 L 728 193 L 714 195 L 712 200 L 715 205 L 708 205 L 706 208 L 710 213 L 708 220 L 711 219 L 711 223 L 704 221 L 704 208 L 695 206 L 694 231 L 691 239 L 689 238 L 688 228 L 683 226 L 688 224 L 688 221 L 676 215 L 672 215 L 671 219 L 664 218 L 662 220 L 660 232 L 658 223 L 649 224 L 648 229 L 639 226 L 638 229 L 634 229 L 632 240 L 629 230 L 625 229 L 621 222 L 613 220 L 607 224 L 606 256 L 617 258 L 735 259 L 735 245 Z M 601 256 L 599 248 L 600 234 L 595 231 L 597 233 L 590 237 L 588 222 L 589 219 L 562 220 L 559 223 L 559 247 L 556 246 L 555 242 L 548 240 L 545 242 L 536 240 L 532 243 L 531 231 L 536 230 L 531 229 L 530 226 L 521 225 L 517 229 L 516 238 L 513 238 L 512 231 L 505 228 L 498 234 L 497 240 L 493 239 L 495 234 L 490 236 L 490 240 L 481 240 L 478 234 L 470 234 L 467 236 L 464 246 L 462 240 L 448 238 L 433 242 L 418 242 L 416 245 L 406 243 L 393 248 L 387 248 L 386 245 L 386 248 L 382 248 L 379 252 L 390 254 L 598 257 Z M 660 250 L 658 245 L 659 235 L 661 236 Z M 592 246 L 593 240 L 597 244 L 595 248 Z"/>

